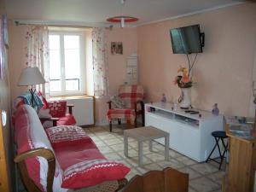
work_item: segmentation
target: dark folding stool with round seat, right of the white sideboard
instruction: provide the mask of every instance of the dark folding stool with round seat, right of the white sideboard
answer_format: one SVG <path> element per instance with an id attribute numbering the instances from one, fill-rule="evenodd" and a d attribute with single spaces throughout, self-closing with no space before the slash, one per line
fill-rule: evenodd
<path id="1" fill-rule="evenodd" d="M 207 161 L 208 161 L 208 160 L 213 160 L 214 162 L 218 163 L 218 164 L 219 164 L 218 170 L 220 170 L 221 165 L 222 165 L 222 163 L 223 163 L 223 160 L 224 160 L 224 158 L 225 158 L 224 155 L 227 153 L 227 150 L 228 150 L 228 143 L 227 143 L 227 144 L 224 143 L 224 139 L 227 138 L 227 135 L 226 135 L 226 132 L 225 132 L 225 131 L 213 131 L 213 132 L 212 132 L 212 137 L 214 137 L 216 143 L 215 143 L 214 147 L 212 148 L 212 152 L 209 154 L 209 156 L 208 156 L 208 158 L 207 158 Z M 221 142 L 222 142 L 222 144 L 223 144 L 223 146 L 224 146 L 224 152 L 223 152 L 223 154 L 221 154 L 221 151 L 220 151 L 220 148 L 219 148 L 219 145 L 218 145 L 219 139 L 221 140 Z M 220 157 L 220 162 L 218 162 L 217 160 L 215 160 L 216 158 L 215 158 L 215 159 L 211 159 L 211 155 L 212 155 L 212 153 L 213 153 L 213 151 L 214 151 L 214 149 L 215 149 L 216 147 L 218 147 L 218 154 L 219 154 L 219 157 Z M 207 161 L 206 161 L 206 162 L 207 162 Z"/>

